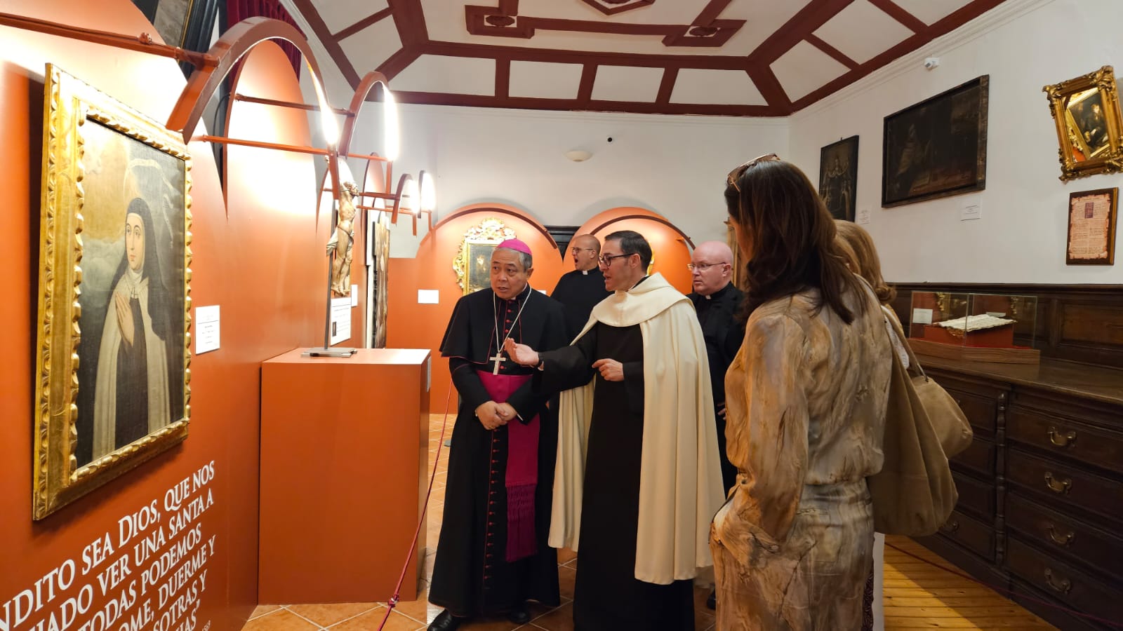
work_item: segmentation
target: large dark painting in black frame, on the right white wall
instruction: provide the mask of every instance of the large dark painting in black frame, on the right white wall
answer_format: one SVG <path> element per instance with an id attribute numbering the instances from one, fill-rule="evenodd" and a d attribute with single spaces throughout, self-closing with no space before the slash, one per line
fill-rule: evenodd
<path id="1" fill-rule="evenodd" d="M 882 207 L 986 189 L 989 75 L 885 117 Z"/>

